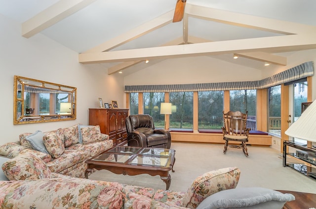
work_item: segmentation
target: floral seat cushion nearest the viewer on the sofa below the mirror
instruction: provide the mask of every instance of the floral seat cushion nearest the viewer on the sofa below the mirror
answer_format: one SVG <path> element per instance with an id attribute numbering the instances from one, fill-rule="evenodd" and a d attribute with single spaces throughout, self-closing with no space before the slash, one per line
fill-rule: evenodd
<path id="1" fill-rule="evenodd" d="M 62 155 L 46 163 L 51 172 L 60 173 L 82 161 L 89 159 L 88 152 L 84 150 L 65 150 Z"/>

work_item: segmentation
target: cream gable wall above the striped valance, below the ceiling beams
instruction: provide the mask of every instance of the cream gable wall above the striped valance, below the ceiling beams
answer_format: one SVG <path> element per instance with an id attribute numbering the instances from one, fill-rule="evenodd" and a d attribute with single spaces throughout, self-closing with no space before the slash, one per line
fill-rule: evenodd
<path id="1" fill-rule="evenodd" d="M 124 77 L 124 85 L 217 83 L 260 80 L 261 70 L 211 57 L 187 57 L 159 62 Z"/>

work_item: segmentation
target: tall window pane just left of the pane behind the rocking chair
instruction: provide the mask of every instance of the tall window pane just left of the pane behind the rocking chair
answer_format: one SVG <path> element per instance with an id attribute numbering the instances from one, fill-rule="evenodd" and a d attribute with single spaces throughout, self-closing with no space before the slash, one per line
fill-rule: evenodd
<path id="1" fill-rule="evenodd" d="M 223 103 L 223 91 L 198 92 L 198 129 L 221 129 Z"/>

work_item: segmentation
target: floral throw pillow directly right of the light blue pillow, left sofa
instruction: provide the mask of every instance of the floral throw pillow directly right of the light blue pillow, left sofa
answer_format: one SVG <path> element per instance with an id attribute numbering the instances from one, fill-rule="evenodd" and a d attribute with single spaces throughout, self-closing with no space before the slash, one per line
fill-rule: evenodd
<path id="1" fill-rule="evenodd" d="M 65 151 L 65 145 L 56 132 L 50 132 L 43 136 L 44 145 L 53 158 L 58 158 Z"/>

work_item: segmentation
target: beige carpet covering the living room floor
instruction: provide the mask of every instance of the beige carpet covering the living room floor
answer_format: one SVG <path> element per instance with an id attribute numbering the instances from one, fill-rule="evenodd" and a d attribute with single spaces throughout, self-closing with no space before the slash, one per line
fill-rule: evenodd
<path id="1" fill-rule="evenodd" d="M 205 172 L 236 166 L 240 169 L 237 187 L 265 187 L 276 190 L 292 190 L 316 193 L 316 180 L 282 166 L 282 155 L 276 149 L 248 146 L 249 157 L 241 149 L 228 148 L 223 154 L 223 144 L 173 142 L 176 150 L 175 173 L 170 171 L 169 190 L 187 191 L 193 180 Z M 118 175 L 106 170 L 96 171 L 90 179 L 117 181 L 120 183 L 165 189 L 160 176 Z"/>

